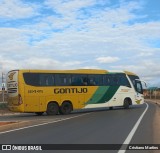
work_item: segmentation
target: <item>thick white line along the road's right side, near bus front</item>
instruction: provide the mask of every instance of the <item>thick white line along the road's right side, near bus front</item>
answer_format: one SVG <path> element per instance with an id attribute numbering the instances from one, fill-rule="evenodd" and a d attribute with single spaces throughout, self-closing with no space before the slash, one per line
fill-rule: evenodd
<path id="1" fill-rule="evenodd" d="M 135 134 L 135 132 L 136 132 L 139 124 L 141 123 L 141 121 L 142 121 L 142 119 L 143 119 L 143 116 L 145 115 L 145 113 L 146 113 L 147 110 L 148 110 L 148 107 L 149 107 L 149 106 L 148 106 L 147 103 L 145 103 L 145 104 L 146 104 L 146 106 L 147 106 L 146 109 L 144 110 L 144 112 L 142 113 L 142 115 L 140 116 L 140 118 L 138 119 L 138 121 L 136 122 L 136 124 L 134 125 L 133 129 L 131 130 L 131 132 L 130 132 L 129 135 L 127 136 L 126 140 L 123 142 L 122 146 L 125 145 L 125 144 L 129 144 L 130 141 L 132 140 L 132 138 L 133 138 L 133 136 L 134 136 L 134 134 Z M 125 153 L 125 152 L 126 152 L 126 150 L 119 150 L 119 151 L 118 151 L 118 153 Z"/>

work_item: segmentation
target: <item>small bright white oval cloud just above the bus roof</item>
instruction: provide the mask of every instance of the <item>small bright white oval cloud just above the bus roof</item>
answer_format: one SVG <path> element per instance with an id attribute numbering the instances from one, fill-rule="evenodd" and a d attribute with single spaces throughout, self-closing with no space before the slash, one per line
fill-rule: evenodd
<path id="1" fill-rule="evenodd" d="M 118 60 L 119 60 L 118 57 L 111 57 L 111 56 L 96 58 L 96 61 L 98 61 L 99 63 L 113 63 L 113 62 L 116 62 Z"/>

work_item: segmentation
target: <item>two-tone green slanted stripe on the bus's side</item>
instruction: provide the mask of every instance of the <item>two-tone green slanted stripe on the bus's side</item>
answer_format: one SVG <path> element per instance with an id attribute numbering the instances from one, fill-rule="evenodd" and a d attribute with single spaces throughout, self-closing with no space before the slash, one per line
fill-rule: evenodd
<path id="1" fill-rule="evenodd" d="M 116 93 L 119 86 L 101 86 L 86 104 L 99 104 L 108 102 Z"/>

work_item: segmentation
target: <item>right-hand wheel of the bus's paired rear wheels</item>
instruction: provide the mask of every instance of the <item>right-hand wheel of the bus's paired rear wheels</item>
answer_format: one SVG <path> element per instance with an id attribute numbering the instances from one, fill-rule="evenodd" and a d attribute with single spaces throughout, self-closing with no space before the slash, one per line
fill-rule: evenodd
<path id="1" fill-rule="evenodd" d="M 70 102 L 64 102 L 60 107 L 60 114 L 70 114 L 73 110 L 72 104 Z"/>

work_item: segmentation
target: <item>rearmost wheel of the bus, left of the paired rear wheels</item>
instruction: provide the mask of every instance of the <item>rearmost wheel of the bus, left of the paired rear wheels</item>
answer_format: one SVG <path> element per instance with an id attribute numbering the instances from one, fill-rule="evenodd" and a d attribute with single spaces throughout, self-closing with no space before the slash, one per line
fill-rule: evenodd
<path id="1" fill-rule="evenodd" d="M 57 103 L 50 102 L 47 106 L 47 115 L 56 115 L 59 112 L 59 106 Z"/>

